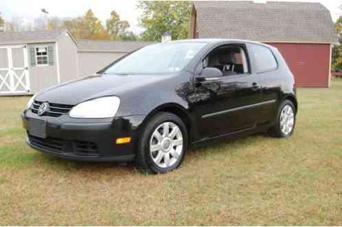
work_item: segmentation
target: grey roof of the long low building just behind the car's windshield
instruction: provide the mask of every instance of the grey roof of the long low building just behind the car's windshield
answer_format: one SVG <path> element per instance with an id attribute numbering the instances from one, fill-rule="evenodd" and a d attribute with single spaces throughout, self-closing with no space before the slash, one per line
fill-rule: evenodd
<path id="1" fill-rule="evenodd" d="M 110 40 L 78 40 L 80 52 L 130 52 L 150 45 L 153 42 L 144 41 L 110 41 Z"/>

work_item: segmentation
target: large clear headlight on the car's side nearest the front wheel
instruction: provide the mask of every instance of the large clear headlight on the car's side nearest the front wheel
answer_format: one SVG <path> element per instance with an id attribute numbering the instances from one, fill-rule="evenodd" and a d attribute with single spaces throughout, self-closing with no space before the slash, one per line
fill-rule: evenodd
<path id="1" fill-rule="evenodd" d="M 75 118 L 115 117 L 119 105 L 120 99 L 118 97 L 101 97 L 78 104 L 71 109 L 69 115 Z"/>

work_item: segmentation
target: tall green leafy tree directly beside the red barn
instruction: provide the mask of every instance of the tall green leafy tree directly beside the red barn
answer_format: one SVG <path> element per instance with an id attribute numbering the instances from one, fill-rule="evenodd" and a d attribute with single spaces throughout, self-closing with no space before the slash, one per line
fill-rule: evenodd
<path id="1" fill-rule="evenodd" d="M 161 40 L 170 32 L 172 40 L 187 38 L 192 3 L 190 1 L 139 1 L 139 25 L 145 28 L 143 40 Z"/>

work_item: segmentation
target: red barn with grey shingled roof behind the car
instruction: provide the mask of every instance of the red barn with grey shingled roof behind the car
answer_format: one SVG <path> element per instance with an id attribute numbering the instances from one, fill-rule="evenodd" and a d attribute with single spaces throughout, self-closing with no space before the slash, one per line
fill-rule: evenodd
<path id="1" fill-rule="evenodd" d="M 239 38 L 277 47 L 297 87 L 329 87 L 337 34 L 321 3 L 195 1 L 190 38 Z"/>

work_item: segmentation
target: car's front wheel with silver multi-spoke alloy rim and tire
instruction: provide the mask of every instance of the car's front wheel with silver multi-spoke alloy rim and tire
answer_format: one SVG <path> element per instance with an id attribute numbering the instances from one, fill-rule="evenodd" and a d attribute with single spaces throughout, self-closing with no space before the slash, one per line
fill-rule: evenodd
<path id="1" fill-rule="evenodd" d="M 144 172 L 166 173 L 181 165 L 187 148 L 187 130 L 179 117 L 160 112 L 146 124 L 135 164 Z"/>

